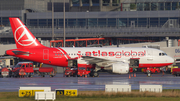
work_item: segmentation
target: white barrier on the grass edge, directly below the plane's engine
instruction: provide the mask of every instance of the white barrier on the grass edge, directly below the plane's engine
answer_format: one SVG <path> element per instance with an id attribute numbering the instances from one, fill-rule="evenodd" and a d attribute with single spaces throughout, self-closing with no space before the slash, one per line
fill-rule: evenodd
<path id="1" fill-rule="evenodd" d="M 105 92 L 131 92 L 131 85 L 105 85 Z"/>

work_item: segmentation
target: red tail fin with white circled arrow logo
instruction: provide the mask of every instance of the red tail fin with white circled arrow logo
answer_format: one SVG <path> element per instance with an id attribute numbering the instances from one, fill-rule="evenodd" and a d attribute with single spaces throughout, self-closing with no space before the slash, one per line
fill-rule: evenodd
<path id="1" fill-rule="evenodd" d="M 44 47 L 19 18 L 9 18 L 17 48 Z"/>

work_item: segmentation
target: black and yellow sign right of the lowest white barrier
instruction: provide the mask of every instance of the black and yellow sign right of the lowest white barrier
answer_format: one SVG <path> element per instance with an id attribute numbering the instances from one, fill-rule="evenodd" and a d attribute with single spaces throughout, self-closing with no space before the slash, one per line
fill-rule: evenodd
<path id="1" fill-rule="evenodd" d="M 77 96 L 77 89 L 56 89 L 56 96 L 65 95 L 65 96 Z"/>

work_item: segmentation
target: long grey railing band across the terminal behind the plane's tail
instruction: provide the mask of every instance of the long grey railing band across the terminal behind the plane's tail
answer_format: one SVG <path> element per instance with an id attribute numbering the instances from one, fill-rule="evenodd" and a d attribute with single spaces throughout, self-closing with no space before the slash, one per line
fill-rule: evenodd
<path id="1" fill-rule="evenodd" d="M 37 37 L 51 37 L 51 28 L 28 27 Z M 63 36 L 63 28 L 55 27 L 56 37 Z M 134 37 L 134 36 L 180 36 L 180 28 L 162 28 L 162 27 L 80 27 L 66 28 L 67 37 L 95 37 L 103 35 L 104 37 Z M 11 29 L 0 30 L 0 36 L 13 37 Z"/>

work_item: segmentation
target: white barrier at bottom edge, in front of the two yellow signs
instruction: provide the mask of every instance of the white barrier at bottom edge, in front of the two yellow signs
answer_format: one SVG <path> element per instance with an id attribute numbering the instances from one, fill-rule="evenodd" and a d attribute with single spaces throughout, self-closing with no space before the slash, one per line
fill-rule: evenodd
<path id="1" fill-rule="evenodd" d="M 36 92 L 35 100 L 56 100 L 55 92 Z"/>

